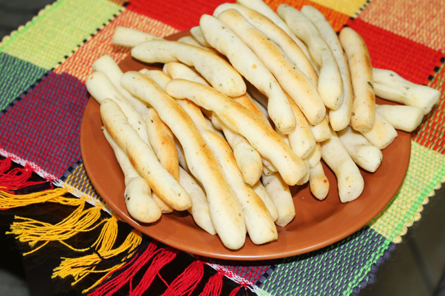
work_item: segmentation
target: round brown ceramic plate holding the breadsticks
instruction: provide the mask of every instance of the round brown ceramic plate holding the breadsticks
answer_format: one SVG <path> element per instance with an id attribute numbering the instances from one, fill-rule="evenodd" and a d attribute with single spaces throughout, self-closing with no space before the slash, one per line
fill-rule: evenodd
<path id="1" fill-rule="evenodd" d="M 186 33 L 170 36 L 177 39 Z M 131 57 L 119 64 L 124 72 L 140 70 L 144 65 Z M 383 103 L 377 98 L 377 103 Z M 385 101 L 385 103 L 388 103 Z M 353 202 L 342 204 L 337 193 L 337 180 L 324 166 L 330 182 L 326 200 L 316 200 L 307 185 L 293 187 L 296 215 L 286 227 L 278 227 L 278 240 L 257 246 L 248 238 L 237 251 L 226 249 L 217 235 L 209 235 L 193 222 L 187 213 L 162 215 L 159 222 L 144 224 L 132 219 L 123 200 L 123 174 L 114 153 L 101 131 L 99 105 L 90 99 L 81 123 L 81 154 L 88 176 L 103 200 L 142 233 L 168 246 L 188 253 L 230 260 L 266 260 L 299 255 L 328 246 L 368 224 L 392 200 L 404 180 L 411 153 L 411 134 L 399 136 L 383 150 L 382 165 L 375 173 L 362 171 L 365 189 Z"/>

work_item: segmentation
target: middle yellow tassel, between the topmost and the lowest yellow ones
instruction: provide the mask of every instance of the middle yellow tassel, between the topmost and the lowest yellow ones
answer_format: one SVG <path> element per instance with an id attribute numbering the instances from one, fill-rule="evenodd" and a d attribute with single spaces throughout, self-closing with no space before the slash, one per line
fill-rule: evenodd
<path id="1" fill-rule="evenodd" d="M 14 222 L 11 224 L 11 231 L 8 233 L 17 235 L 17 238 L 21 242 L 28 242 L 31 247 L 34 247 L 37 242 L 43 242 L 39 247 L 33 249 L 23 255 L 28 255 L 40 249 L 51 241 L 63 241 L 76 235 L 81 231 L 91 231 L 97 226 L 105 222 L 102 220 L 97 223 L 97 220 L 101 217 L 101 209 L 92 207 L 84 210 L 85 202 L 78 198 L 67 199 L 66 202 L 71 203 L 75 201 L 79 204 L 79 207 L 75 209 L 67 218 L 57 224 L 50 224 L 46 222 L 39 222 L 30 218 L 15 217 L 22 222 Z M 62 200 L 60 201 L 62 202 Z M 91 227 L 91 228 L 90 228 Z"/>

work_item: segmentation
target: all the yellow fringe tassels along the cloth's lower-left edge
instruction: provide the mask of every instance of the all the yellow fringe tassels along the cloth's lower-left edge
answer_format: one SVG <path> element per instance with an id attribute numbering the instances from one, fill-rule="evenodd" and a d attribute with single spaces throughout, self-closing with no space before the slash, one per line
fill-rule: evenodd
<path id="1" fill-rule="evenodd" d="M 15 235 L 18 240 L 27 242 L 33 248 L 28 253 L 23 253 L 23 255 L 34 253 L 43 246 L 46 246 L 49 242 L 60 242 L 69 249 L 77 252 L 95 249 L 96 253 L 84 255 L 83 257 L 63 258 L 64 260 L 55 268 L 52 274 L 52 278 L 74 277 L 74 282 L 72 282 L 72 286 L 74 286 L 90 273 L 105 273 L 95 284 L 83 291 L 83 293 L 86 293 L 86 291 L 95 288 L 103 279 L 108 277 L 110 271 L 115 271 L 117 268 L 126 264 L 126 259 L 128 259 L 128 257 L 132 255 L 132 251 L 141 244 L 142 235 L 139 231 L 133 229 L 120 246 L 112 249 L 117 239 L 118 218 L 112 215 L 108 219 L 100 220 L 102 210 L 100 207 L 85 209 L 85 200 L 81 198 L 66 198 L 63 196 L 68 192 L 69 190 L 66 188 L 57 188 L 36 193 L 14 195 L 0 190 L 0 209 L 12 209 L 43 202 L 57 202 L 59 204 L 77 206 L 75 211 L 72 211 L 67 218 L 57 224 L 15 216 L 14 219 L 17 220 L 17 222 L 11 224 L 10 231 L 7 233 Z M 101 233 L 90 247 L 77 249 L 65 242 L 65 240 L 68 240 L 77 233 L 92 231 L 101 224 L 103 224 Z M 39 246 L 36 247 L 38 243 Z M 107 265 L 108 267 L 97 270 L 104 258 L 111 258 L 122 253 L 126 253 L 127 255 L 122 258 L 121 263 L 113 266 Z"/>

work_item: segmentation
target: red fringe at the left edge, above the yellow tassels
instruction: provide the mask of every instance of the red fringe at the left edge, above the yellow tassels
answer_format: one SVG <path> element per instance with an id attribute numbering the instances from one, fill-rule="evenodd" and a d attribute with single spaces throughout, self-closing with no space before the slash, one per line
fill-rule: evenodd
<path id="1" fill-rule="evenodd" d="M 47 183 L 48 181 L 28 181 L 32 176 L 32 168 L 26 164 L 25 167 L 16 167 L 11 169 L 12 160 L 10 157 L 0 159 L 0 190 L 8 193 L 14 193 L 17 189 L 32 187 L 37 184 Z"/>

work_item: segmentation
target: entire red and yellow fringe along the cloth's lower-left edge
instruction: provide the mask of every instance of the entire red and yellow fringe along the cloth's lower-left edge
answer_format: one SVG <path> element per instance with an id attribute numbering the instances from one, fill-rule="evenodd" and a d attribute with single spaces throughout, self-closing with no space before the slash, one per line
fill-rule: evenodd
<path id="1" fill-rule="evenodd" d="M 229 296 L 237 295 L 241 289 L 249 288 L 255 291 L 255 286 L 228 271 L 217 264 L 209 264 L 200 260 L 190 263 L 184 271 L 168 284 L 159 274 L 161 268 L 169 264 L 177 255 L 175 249 L 158 246 L 158 243 L 142 242 L 142 234 L 133 229 L 126 240 L 116 246 L 119 218 L 110 213 L 110 218 L 101 219 L 102 211 L 109 213 L 106 207 L 101 207 L 101 203 L 95 204 L 88 199 L 85 194 L 76 191 L 74 187 L 54 179 L 51 182 L 30 182 L 30 177 L 34 167 L 23 162 L 23 167 L 10 169 L 11 160 L 7 157 L 0 160 L 0 209 L 12 209 L 25 207 L 30 204 L 43 202 L 57 202 L 59 204 L 77 207 L 68 217 L 56 224 L 41 222 L 38 220 L 15 217 L 15 222 L 10 226 L 7 234 L 15 235 L 21 242 L 26 242 L 32 248 L 29 255 L 43 248 L 50 242 L 59 242 L 66 248 L 78 253 L 88 253 L 81 257 L 62 258 L 61 264 L 57 266 L 52 274 L 52 278 L 72 277 L 71 285 L 79 283 L 92 273 L 102 273 L 94 284 L 82 291 L 90 293 L 92 296 L 113 295 L 123 286 L 129 287 L 129 295 L 143 295 L 150 288 L 156 277 L 161 279 L 166 285 L 166 290 L 162 296 L 190 295 L 204 277 L 204 264 L 215 268 L 217 273 L 208 279 L 200 296 L 216 296 L 221 294 L 224 276 L 233 280 L 239 286 L 234 288 Z M 15 161 L 15 160 L 14 160 Z M 39 174 L 39 173 L 38 173 Z M 40 176 L 46 175 L 43 172 Z M 48 183 L 61 186 L 61 188 L 45 189 Z M 19 192 L 36 191 L 26 194 Z M 66 197 L 70 193 L 70 197 Z M 86 204 L 93 207 L 86 208 Z M 92 231 L 101 226 L 101 231 L 97 240 L 85 249 L 77 249 L 68 244 L 68 239 L 83 232 Z M 145 271 L 143 271 L 145 268 Z M 139 282 L 135 282 L 134 275 L 138 273 Z M 139 274 L 141 274 L 139 277 Z M 92 292 L 91 292 L 92 291 Z"/>

